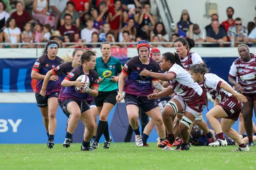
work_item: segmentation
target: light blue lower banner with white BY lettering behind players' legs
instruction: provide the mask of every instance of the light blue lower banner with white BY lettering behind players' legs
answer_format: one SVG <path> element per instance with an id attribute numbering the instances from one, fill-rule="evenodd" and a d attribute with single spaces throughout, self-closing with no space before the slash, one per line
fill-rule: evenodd
<path id="1" fill-rule="evenodd" d="M 213 102 L 208 103 L 208 108 L 213 107 Z M 0 104 L 0 143 L 46 143 L 47 134 L 43 124 L 42 116 L 39 108 L 35 103 L 12 103 Z M 207 122 L 207 108 L 204 108 L 203 116 Z M 55 133 L 55 143 L 64 142 L 67 125 L 67 117 L 58 108 L 57 114 L 57 129 Z M 253 121 L 256 122 L 255 116 Z M 207 122 L 209 125 L 209 122 Z M 127 133 L 129 122 L 124 103 L 118 103 L 108 115 L 108 124 L 110 135 L 113 142 L 124 142 Z M 233 129 L 238 131 L 238 124 L 233 125 Z M 211 126 L 209 125 L 211 128 Z M 140 129 L 141 130 L 141 129 Z M 84 134 L 84 125 L 79 122 L 76 131 L 73 135 L 74 142 L 82 142 Z M 155 128 L 148 138 L 148 142 L 156 142 L 158 135 Z M 134 133 L 131 137 L 131 142 L 134 142 Z M 100 139 L 100 143 L 104 142 L 104 136 Z"/>

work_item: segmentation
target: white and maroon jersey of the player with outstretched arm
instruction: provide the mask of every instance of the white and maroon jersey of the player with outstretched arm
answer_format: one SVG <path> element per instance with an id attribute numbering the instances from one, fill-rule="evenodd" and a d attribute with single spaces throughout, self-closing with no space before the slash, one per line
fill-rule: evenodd
<path id="1" fill-rule="evenodd" d="M 170 87 L 185 101 L 191 101 L 201 96 L 203 89 L 194 82 L 191 75 L 180 67 L 174 64 L 168 71 L 175 75 L 175 78 L 170 81 Z"/>

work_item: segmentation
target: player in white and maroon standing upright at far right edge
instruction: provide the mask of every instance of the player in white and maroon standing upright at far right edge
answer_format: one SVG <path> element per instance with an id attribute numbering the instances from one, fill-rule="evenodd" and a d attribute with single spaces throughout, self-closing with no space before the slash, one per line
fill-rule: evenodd
<path id="1" fill-rule="evenodd" d="M 238 53 L 240 57 L 231 65 L 228 81 L 236 87 L 239 93 L 242 93 L 248 99 L 248 102 L 244 103 L 241 112 L 249 139 L 248 145 L 253 146 L 252 117 L 253 108 L 256 113 L 256 55 L 251 54 L 249 47 L 245 44 L 238 46 Z M 236 77 L 238 82 L 236 82 Z"/>

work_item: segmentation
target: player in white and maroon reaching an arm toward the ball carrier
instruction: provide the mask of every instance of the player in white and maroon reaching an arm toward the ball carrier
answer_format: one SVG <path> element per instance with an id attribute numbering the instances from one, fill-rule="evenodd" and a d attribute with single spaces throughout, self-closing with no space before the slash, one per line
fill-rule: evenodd
<path id="1" fill-rule="evenodd" d="M 181 150 L 189 150 L 189 127 L 195 118 L 203 110 L 206 104 L 202 88 L 195 83 L 191 75 L 184 70 L 177 53 L 164 53 L 160 59 L 162 71 L 167 74 L 153 73 L 148 70 L 141 71 L 140 75 L 154 77 L 163 81 L 169 81 L 170 86 L 163 92 L 148 95 L 148 99 L 157 99 L 175 93 L 175 96 L 165 105 L 163 110 L 163 122 L 166 127 L 167 137 L 160 142 L 159 147 L 166 147 L 175 141 L 173 134 L 172 116 L 184 111 L 180 120 L 179 131 L 182 138 Z"/>

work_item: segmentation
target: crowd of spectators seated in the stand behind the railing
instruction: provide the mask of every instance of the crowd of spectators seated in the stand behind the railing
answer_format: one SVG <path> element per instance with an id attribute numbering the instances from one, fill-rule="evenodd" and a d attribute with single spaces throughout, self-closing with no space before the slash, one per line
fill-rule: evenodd
<path id="1" fill-rule="evenodd" d="M 17 42 L 26 42 L 21 48 L 35 48 L 33 42 L 75 42 L 66 48 L 89 48 L 86 42 L 137 42 L 148 40 L 154 47 L 172 47 L 175 37 L 190 37 L 195 42 L 212 42 L 209 47 L 238 46 L 239 42 L 256 42 L 256 17 L 243 25 L 241 18 L 233 19 L 234 9 L 227 8 L 227 20 L 220 23 L 218 14 L 211 15 L 205 28 L 192 23 L 189 11 L 181 11 L 174 33 L 166 31 L 162 22 L 151 13 L 149 0 L 33 0 L 25 11 L 24 0 L 15 1 L 15 10 L 9 0 L 0 0 L 0 42 L 9 42 L 1 48 L 17 48 Z M 224 42 L 230 41 L 230 45 Z M 153 43 L 156 42 L 156 43 Z M 30 44 L 28 44 L 30 43 Z M 199 43 L 200 44 L 200 43 Z M 133 44 L 113 47 L 134 47 Z"/>

